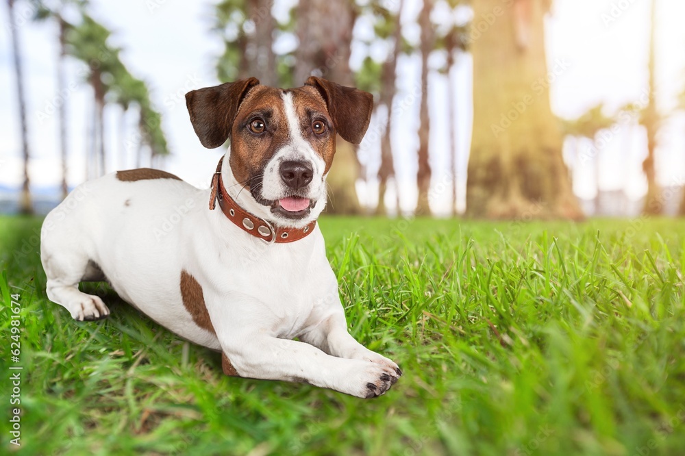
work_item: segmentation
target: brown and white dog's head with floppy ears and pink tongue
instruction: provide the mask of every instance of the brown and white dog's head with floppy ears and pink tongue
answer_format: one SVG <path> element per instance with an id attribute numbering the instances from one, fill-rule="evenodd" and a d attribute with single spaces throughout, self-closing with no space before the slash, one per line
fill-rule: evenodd
<path id="1" fill-rule="evenodd" d="M 245 209 L 278 225 L 301 227 L 325 207 L 336 133 L 359 144 L 373 97 L 318 77 L 288 90 L 251 77 L 192 90 L 186 105 L 204 147 L 214 149 L 231 138 L 234 182 L 224 184 L 249 190 Z"/>

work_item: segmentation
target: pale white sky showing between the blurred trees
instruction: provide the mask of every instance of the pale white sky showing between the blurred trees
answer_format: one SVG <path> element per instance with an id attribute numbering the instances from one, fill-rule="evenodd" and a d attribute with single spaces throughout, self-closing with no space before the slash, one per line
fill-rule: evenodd
<path id="1" fill-rule="evenodd" d="M 275 15 L 284 17 L 295 0 L 275 2 Z M 221 53 L 221 42 L 212 34 L 212 1 L 180 0 L 120 0 L 92 1 L 92 16 L 112 29 L 111 45 L 121 47 L 121 59 L 129 70 L 149 83 L 153 103 L 162 112 L 163 127 L 169 140 L 172 156 L 164 167 L 184 180 L 207 188 L 220 149 L 201 147 L 192 131 L 186 112 L 184 94 L 188 90 L 218 84 L 214 62 Z M 393 3 L 393 2 L 390 2 Z M 502 0 L 503 5 L 508 1 Z M 415 24 L 421 8 L 420 0 L 408 0 L 403 12 L 406 38 L 418 42 L 419 28 Z M 33 188 L 56 186 L 60 181 L 58 123 L 55 106 L 66 102 L 70 118 L 69 184 L 84 181 L 86 135 L 88 118 L 92 115 L 90 89 L 79 70 L 78 62 L 67 68 L 66 93 L 55 93 L 55 74 L 58 55 L 57 29 L 51 23 L 36 24 L 25 20 L 31 16 L 26 1 L 16 4 L 13 24 L 21 37 L 25 53 L 27 77 L 27 118 L 29 120 L 32 160 L 29 172 Z M 451 20 L 438 9 L 434 19 Z M 10 53 L 9 23 L 6 8 L 1 13 L 0 30 L 0 186 L 21 183 L 21 141 L 16 107 L 16 89 Z M 463 18 L 463 10 L 456 19 Z M 674 112 L 677 93 L 685 88 L 685 2 L 658 0 L 657 10 L 657 90 L 658 107 L 663 114 L 672 114 L 660 133 L 658 179 L 663 185 L 682 184 L 685 173 L 685 114 Z M 551 74 L 551 105 L 553 112 L 565 118 L 580 116 L 598 103 L 606 105 L 606 114 L 615 114 L 625 103 L 639 102 L 647 90 L 647 55 L 649 1 L 647 0 L 555 0 L 553 13 L 547 19 L 547 54 L 550 70 L 557 62 L 564 62 L 564 70 Z M 478 20 L 478 18 L 476 18 Z M 363 21 L 354 34 L 363 38 L 371 33 L 371 25 Z M 297 43 L 280 42 L 279 46 Z M 382 55 L 384 49 L 353 45 L 351 65 L 358 66 L 366 53 Z M 436 69 L 444 62 L 444 55 L 434 53 L 429 66 Z M 420 105 L 420 60 L 418 56 L 403 56 L 399 62 L 398 94 L 396 102 L 403 109 L 397 118 L 393 147 L 396 154 L 397 181 L 403 210 L 410 210 L 416 201 L 414 186 L 416 131 Z M 430 138 L 432 186 L 436 198 L 432 201 L 436 212 L 449 210 L 451 173 L 448 166 L 450 125 L 443 113 L 447 109 L 447 85 L 456 84 L 458 122 L 458 182 L 460 206 L 463 207 L 465 169 L 471 135 L 471 58 L 458 56 L 456 71 L 429 75 L 429 104 L 432 129 Z M 418 94 L 418 96 L 417 96 Z M 382 113 L 380 113 L 382 114 Z M 134 153 L 138 135 L 136 114 L 123 116 L 119 107 L 105 110 L 105 136 L 110 158 L 108 170 L 135 167 Z M 361 147 L 362 160 L 368 162 L 373 175 L 379 164 L 378 139 L 382 131 L 383 115 L 375 116 Z M 119 131 L 125 131 L 124 141 Z M 640 158 L 646 153 L 645 133 L 630 120 L 619 123 L 615 133 L 608 134 L 599 144 L 602 190 L 625 189 L 638 199 L 646 190 Z M 580 197 L 592 198 L 595 186 L 595 160 L 592 144 L 588 141 L 567 140 L 564 156 L 573 164 L 574 190 Z M 147 164 L 144 163 L 144 166 Z M 375 204 L 377 184 L 359 183 L 362 203 Z M 388 203 L 395 199 L 392 191 Z"/>

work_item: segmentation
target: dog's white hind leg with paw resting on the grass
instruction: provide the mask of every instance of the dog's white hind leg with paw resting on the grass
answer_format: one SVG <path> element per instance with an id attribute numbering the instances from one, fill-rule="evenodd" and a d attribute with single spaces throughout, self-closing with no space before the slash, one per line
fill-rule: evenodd
<path id="1" fill-rule="evenodd" d="M 41 246 L 40 255 L 47 276 L 47 297 L 69 310 L 75 320 L 99 320 L 110 314 L 110 309 L 98 296 L 79 291 L 79 281 L 99 278 L 101 271 L 88 257 L 77 251 L 64 250 L 59 255 Z"/>

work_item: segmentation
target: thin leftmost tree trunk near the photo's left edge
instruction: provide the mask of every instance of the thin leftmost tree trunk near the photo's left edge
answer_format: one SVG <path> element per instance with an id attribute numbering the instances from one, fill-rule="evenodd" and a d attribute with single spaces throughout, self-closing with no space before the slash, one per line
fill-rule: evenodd
<path id="1" fill-rule="evenodd" d="M 14 0 L 8 0 L 8 16 L 10 18 L 10 32 L 12 36 L 12 58 L 14 60 L 14 77 L 16 78 L 16 96 L 19 103 L 19 122 L 21 124 L 21 146 L 24 160 L 24 176 L 21 184 L 21 197 L 19 199 L 19 212 L 33 214 L 34 207 L 29 190 L 29 135 L 26 123 L 26 99 L 24 94 L 24 74 L 19 49 L 18 27 L 14 22 Z"/>

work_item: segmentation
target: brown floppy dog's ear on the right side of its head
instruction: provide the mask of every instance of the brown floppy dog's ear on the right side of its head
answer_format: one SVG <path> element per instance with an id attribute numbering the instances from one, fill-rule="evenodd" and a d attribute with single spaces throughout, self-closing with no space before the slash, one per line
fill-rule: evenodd
<path id="1" fill-rule="evenodd" d="M 309 77 L 304 84 L 319 90 L 338 134 L 353 144 L 362 142 L 371 121 L 373 95 L 316 76 Z"/>

